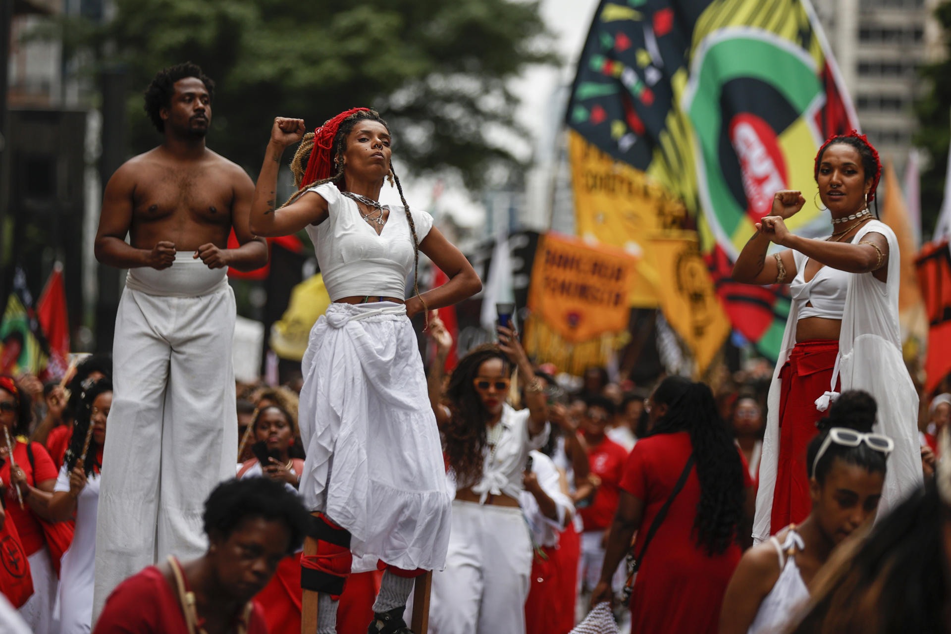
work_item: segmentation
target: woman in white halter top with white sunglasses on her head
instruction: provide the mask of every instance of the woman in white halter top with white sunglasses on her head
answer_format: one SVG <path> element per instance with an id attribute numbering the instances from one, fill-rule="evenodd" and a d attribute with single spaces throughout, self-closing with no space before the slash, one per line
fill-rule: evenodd
<path id="1" fill-rule="evenodd" d="M 845 392 L 819 423 L 806 451 L 812 511 L 747 550 L 727 587 L 720 634 L 786 631 L 832 549 L 875 516 L 891 438 L 871 433 L 875 399 Z"/>

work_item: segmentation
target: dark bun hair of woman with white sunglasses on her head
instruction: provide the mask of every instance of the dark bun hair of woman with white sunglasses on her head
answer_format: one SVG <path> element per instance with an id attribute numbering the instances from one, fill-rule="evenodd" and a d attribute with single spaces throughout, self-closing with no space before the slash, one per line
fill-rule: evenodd
<path id="1" fill-rule="evenodd" d="M 875 425 L 875 415 L 878 413 L 878 404 L 871 394 L 862 390 L 849 390 L 842 393 L 839 398 L 829 408 L 828 415 L 816 423 L 819 428 L 819 434 L 809 442 L 805 450 L 805 471 L 808 476 L 816 478 L 819 484 L 825 483 L 825 476 L 832 468 L 832 462 L 838 458 L 844 462 L 864 467 L 870 473 L 885 473 L 887 469 L 887 456 L 882 451 L 875 451 L 865 443 L 858 447 L 844 447 L 836 443 L 830 443 L 819 459 L 816 465 L 816 472 L 812 472 L 812 463 L 816 459 L 816 453 L 822 447 L 829 430 L 833 427 L 845 427 L 856 432 L 871 432 Z"/>

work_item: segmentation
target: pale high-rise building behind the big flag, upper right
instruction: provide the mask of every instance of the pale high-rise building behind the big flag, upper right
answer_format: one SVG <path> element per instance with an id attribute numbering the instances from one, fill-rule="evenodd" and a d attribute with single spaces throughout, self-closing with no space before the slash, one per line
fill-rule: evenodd
<path id="1" fill-rule="evenodd" d="M 941 55 L 938 0 L 813 0 L 868 140 L 899 173 L 918 128 L 918 69 Z"/>

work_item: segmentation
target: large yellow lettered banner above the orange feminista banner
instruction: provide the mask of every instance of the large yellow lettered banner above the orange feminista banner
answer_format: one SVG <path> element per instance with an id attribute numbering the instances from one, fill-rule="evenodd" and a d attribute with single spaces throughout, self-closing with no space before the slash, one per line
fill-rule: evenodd
<path id="1" fill-rule="evenodd" d="M 638 275 L 631 277 L 629 305 L 656 308 L 655 287 L 664 276 L 650 257 L 650 240 L 679 230 L 687 208 L 644 172 L 614 161 L 573 130 L 568 144 L 576 233 L 631 254 Z"/>

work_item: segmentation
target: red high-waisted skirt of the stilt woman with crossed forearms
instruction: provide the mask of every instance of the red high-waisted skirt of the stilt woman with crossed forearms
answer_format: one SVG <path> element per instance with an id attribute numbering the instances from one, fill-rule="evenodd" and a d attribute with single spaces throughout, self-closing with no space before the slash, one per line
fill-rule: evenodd
<path id="1" fill-rule="evenodd" d="M 799 524 L 812 509 L 805 449 L 817 433 L 816 423 L 825 415 L 816 409 L 816 399 L 829 389 L 838 354 L 838 340 L 802 341 L 780 370 L 779 460 L 769 523 L 772 533 Z"/>

